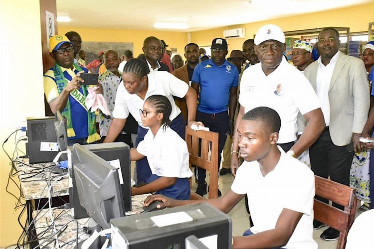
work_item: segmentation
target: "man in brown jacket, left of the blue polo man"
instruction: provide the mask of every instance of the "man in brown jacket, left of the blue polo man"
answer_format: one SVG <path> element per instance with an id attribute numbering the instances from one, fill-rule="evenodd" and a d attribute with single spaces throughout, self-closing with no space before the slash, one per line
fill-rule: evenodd
<path id="1" fill-rule="evenodd" d="M 187 59 L 187 64 L 173 71 L 175 77 L 186 82 L 191 86 L 191 79 L 193 74 L 193 69 L 198 64 L 198 45 L 195 43 L 188 43 L 185 46 L 185 57 Z M 183 118 L 187 124 L 187 105 L 185 98 L 175 97 L 176 105 L 181 109 Z"/>

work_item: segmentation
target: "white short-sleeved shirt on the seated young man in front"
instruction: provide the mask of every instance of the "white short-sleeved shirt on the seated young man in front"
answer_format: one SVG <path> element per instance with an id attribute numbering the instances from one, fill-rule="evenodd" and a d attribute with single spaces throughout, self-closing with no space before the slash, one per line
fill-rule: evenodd
<path id="1" fill-rule="evenodd" d="M 303 213 L 287 249 L 317 249 L 313 240 L 314 174 L 302 162 L 287 155 L 282 148 L 275 168 L 266 176 L 257 161 L 243 162 L 236 172 L 231 190 L 248 196 L 248 206 L 256 234 L 275 228 L 284 208 Z"/>

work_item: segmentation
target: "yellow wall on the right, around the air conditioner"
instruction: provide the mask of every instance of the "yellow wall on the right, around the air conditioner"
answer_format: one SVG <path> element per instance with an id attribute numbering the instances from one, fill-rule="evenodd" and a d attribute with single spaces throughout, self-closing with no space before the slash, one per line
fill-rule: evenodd
<path id="1" fill-rule="evenodd" d="M 246 39 L 253 38 L 259 27 L 271 23 L 280 26 L 283 31 L 292 31 L 318 27 L 349 27 L 350 32 L 368 31 L 369 22 L 374 22 L 374 3 L 358 5 L 348 8 L 340 8 L 304 15 L 290 16 L 267 21 L 233 25 L 191 32 L 191 42 L 200 46 L 207 46 L 215 37 L 222 37 L 223 30 L 232 28 L 245 28 L 245 38 L 229 39 L 228 50 L 242 48 Z"/>

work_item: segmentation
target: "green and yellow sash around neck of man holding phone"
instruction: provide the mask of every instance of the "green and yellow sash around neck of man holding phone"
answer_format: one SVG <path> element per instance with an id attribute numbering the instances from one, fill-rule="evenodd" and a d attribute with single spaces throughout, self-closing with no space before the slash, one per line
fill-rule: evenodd
<path id="1" fill-rule="evenodd" d="M 73 66 L 78 72 L 82 71 L 82 68 L 78 64 L 73 63 Z M 61 94 L 62 90 L 67 85 L 67 80 L 65 79 L 65 77 L 62 73 L 61 67 L 57 63 L 54 64 L 52 70 L 53 70 L 53 73 L 54 73 L 54 77 L 56 79 L 58 93 Z M 82 87 L 82 90 L 83 90 L 83 95 L 77 89 L 74 89 L 74 91 L 72 91 L 70 93 L 70 95 L 79 104 L 81 104 L 81 106 L 87 111 L 87 120 L 88 120 L 87 143 L 91 143 L 91 142 L 99 140 L 100 135 L 96 132 L 95 113 L 91 113 L 90 111 L 88 111 L 88 109 L 86 107 L 86 104 L 85 104 L 86 96 L 87 96 L 87 93 L 88 93 L 87 85 L 82 85 L 81 87 Z M 69 99 L 67 100 L 65 109 L 62 110 L 62 115 L 65 116 L 66 119 L 67 119 L 67 136 L 68 137 L 75 136 L 75 132 L 74 132 L 73 125 L 72 125 L 72 119 L 71 119 L 71 110 L 70 110 Z"/>

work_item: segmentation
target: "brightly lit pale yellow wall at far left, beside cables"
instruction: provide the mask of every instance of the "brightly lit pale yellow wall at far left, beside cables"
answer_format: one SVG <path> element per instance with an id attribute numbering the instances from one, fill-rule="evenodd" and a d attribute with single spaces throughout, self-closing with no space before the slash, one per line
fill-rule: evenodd
<path id="1" fill-rule="evenodd" d="M 44 116 L 39 0 L 0 1 L 1 83 L 0 141 L 26 117 Z M 14 148 L 9 139 L 5 149 Z M 20 146 L 22 148 L 22 146 Z M 24 148 L 22 148 L 24 151 Z M 5 192 L 9 160 L 0 152 L 0 247 L 14 244 L 21 233 L 17 223 L 20 210 L 16 200 Z M 13 193 L 18 193 L 13 186 Z M 21 219 L 22 222 L 24 218 Z"/>

